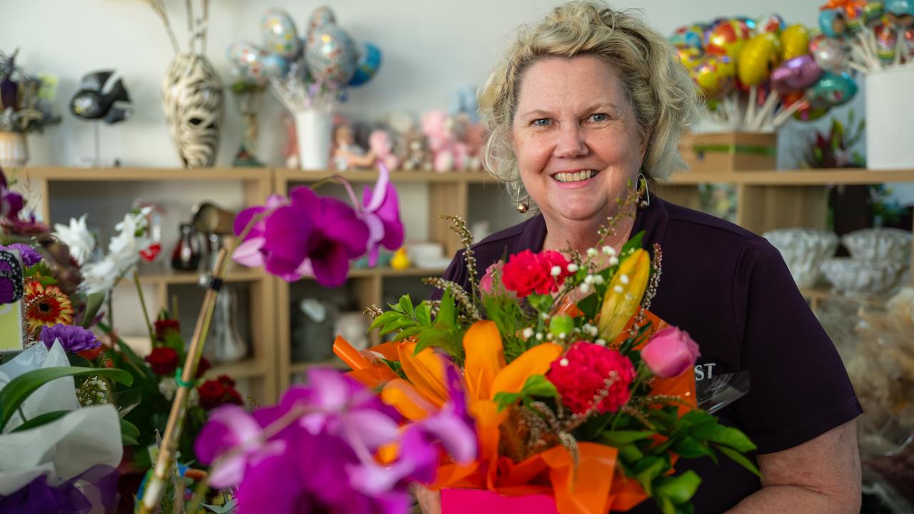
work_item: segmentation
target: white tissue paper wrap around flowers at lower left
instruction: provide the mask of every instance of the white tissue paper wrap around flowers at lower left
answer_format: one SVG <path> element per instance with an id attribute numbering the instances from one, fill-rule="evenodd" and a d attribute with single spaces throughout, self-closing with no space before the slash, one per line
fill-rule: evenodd
<path id="1" fill-rule="evenodd" d="M 58 342 L 27 348 L 0 365 L 0 389 L 32 369 L 69 366 Z M 22 419 L 16 413 L 0 434 L 0 496 L 11 494 L 40 475 L 49 484 L 76 477 L 91 466 L 121 463 L 121 422 L 113 405 L 80 408 L 72 377 L 52 380 L 22 404 L 27 419 L 53 411 L 72 411 L 57 421 L 10 434 Z"/>

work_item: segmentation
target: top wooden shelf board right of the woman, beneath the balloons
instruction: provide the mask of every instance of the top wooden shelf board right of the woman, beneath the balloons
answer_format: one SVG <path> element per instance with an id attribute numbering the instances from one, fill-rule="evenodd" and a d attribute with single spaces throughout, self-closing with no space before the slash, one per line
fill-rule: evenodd
<path id="1" fill-rule="evenodd" d="M 881 184 L 914 182 L 914 169 L 871 171 L 866 169 L 784 169 L 739 172 L 681 172 L 669 183 L 696 185 L 707 183 L 747 186 L 824 186 L 828 184 Z"/>

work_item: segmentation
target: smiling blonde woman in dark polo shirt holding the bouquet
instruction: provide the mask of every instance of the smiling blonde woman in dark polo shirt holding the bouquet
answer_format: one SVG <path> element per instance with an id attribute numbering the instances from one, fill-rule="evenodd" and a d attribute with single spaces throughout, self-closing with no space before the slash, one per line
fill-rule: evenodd
<path id="1" fill-rule="evenodd" d="M 534 215 L 473 246 L 476 273 L 506 254 L 543 251 L 603 255 L 612 265 L 626 241 L 642 237 L 649 251 L 663 249 L 650 310 L 697 342 L 697 381 L 749 376 L 749 394 L 716 415 L 758 445 L 761 478 L 724 461 L 680 461 L 677 473 L 702 477 L 695 511 L 858 511 L 860 404 L 781 254 L 647 191 L 685 168 L 679 137 L 696 112 L 695 85 L 665 38 L 599 2 L 559 5 L 518 30 L 480 105 L 485 165 Z M 632 193 L 638 200 L 624 201 Z M 594 248 L 613 217 L 606 246 Z M 470 290 L 462 253 L 443 278 Z M 435 509 L 435 498 L 420 498 Z"/>

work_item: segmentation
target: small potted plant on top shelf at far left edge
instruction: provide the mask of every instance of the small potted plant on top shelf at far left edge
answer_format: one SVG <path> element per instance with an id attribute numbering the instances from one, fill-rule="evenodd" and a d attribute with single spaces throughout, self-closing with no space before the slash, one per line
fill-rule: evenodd
<path id="1" fill-rule="evenodd" d="M 26 134 L 41 133 L 60 122 L 51 112 L 49 97 L 54 82 L 28 75 L 16 66 L 16 54 L 0 51 L 0 166 L 25 166 L 28 161 Z"/>

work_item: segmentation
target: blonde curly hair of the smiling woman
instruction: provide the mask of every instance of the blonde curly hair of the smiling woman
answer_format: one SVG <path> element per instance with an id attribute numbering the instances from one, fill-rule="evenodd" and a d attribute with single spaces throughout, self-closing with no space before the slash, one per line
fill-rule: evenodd
<path id="1" fill-rule="evenodd" d="M 484 165 L 512 196 L 523 190 L 511 134 L 524 72 L 539 59 L 580 55 L 604 59 L 619 72 L 639 133 L 647 140 L 643 173 L 648 180 L 685 169 L 679 138 L 696 119 L 697 94 L 674 48 L 630 11 L 615 11 L 599 1 L 575 1 L 559 5 L 536 25 L 519 27 L 479 93 L 489 131 Z"/>

